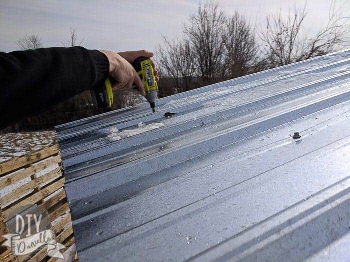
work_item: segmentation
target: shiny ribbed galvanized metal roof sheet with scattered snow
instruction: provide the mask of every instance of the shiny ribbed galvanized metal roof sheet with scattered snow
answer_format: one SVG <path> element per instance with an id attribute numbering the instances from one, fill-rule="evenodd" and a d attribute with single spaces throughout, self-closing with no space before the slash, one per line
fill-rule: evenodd
<path id="1" fill-rule="evenodd" d="M 348 259 L 349 58 L 57 126 L 79 259 Z"/>

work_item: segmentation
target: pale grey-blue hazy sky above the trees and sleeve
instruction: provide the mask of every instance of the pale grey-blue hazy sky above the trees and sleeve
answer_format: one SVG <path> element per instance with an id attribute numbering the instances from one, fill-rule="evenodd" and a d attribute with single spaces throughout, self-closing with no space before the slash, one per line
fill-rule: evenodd
<path id="1" fill-rule="evenodd" d="M 203 1 L 202 1 L 203 2 Z M 253 22 L 264 24 L 265 16 L 304 0 L 218 0 L 227 13 L 235 10 Z M 326 22 L 330 0 L 308 0 L 305 30 L 312 34 Z M 337 0 L 350 14 L 350 1 Z M 148 3 L 145 6 L 145 3 Z M 154 50 L 161 35 L 180 35 L 182 25 L 196 11 L 199 0 L 1 0 L 0 50 L 16 50 L 15 41 L 25 34 L 36 34 L 45 47 L 62 46 L 72 26 L 89 49 L 114 51 Z"/>

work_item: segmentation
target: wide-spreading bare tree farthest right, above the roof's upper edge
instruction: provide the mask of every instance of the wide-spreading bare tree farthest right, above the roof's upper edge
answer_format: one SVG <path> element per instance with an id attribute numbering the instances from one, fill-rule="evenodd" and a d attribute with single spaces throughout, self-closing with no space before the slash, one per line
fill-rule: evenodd
<path id="1" fill-rule="evenodd" d="M 311 57 L 330 53 L 344 42 L 346 34 L 344 18 L 333 3 L 327 25 L 314 37 L 302 32 L 302 24 L 307 15 L 306 4 L 303 8 L 289 10 L 283 19 L 281 11 L 266 17 L 266 28 L 260 28 L 261 52 L 269 67 L 290 64 Z"/>

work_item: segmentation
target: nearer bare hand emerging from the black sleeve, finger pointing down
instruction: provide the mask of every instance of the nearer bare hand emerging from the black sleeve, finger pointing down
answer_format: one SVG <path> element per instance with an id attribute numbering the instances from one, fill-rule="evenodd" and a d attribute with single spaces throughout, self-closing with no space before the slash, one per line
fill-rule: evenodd
<path id="1" fill-rule="evenodd" d="M 113 84 L 113 89 L 130 89 L 132 88 L 132 84 L 135 83 L 140 93 L 143 96 L 146 95 L 141 78 L 139 78 L 130 62 L 118 53 L 106 50 L 102 50 L 101 52 L 107 56 L 109 60 L 109 74 L 116 80 Z"/>

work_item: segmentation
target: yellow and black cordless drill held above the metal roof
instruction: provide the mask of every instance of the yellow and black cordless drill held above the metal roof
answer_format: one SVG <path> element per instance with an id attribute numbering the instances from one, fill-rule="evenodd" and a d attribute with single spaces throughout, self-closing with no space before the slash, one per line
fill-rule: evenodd
<path id="1" fill-rule="evenodd" d="M 135 68 L 137 74 L 141 78 L 146 91 L 146 98 L 153 112 L 155 112 L 155 100 L 158 97 L 158 84 L 155 81 L 152 63 L 148 57 L 140 56 L 136 58 L 136 60 L 132 63 L 132 66 Z M 111 80 L 113 81 L 114 79 L 109 76 L 102 86 L 91 91 L 92 98 L 97 107 L 107 108 L 112 106 L 113 90 Z M 137 89 L 135 86 L 133 88 Z"/>

